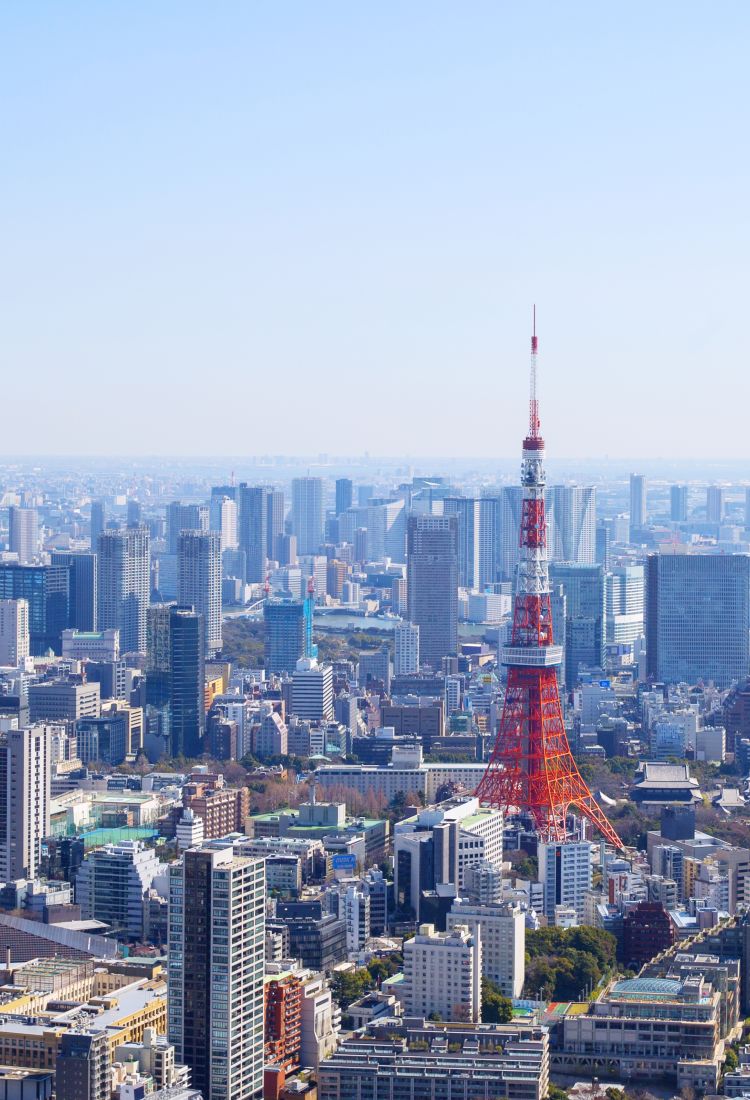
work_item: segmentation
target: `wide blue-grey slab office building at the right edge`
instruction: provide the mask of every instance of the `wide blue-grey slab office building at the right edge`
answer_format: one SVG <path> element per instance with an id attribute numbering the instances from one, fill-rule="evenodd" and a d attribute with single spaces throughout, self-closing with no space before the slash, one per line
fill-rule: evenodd
<path id="1" fill-rule="evenodd" d="M 646 645 L 650 676 L 666 683 L 743 681 L 750 660 L 750 557 L 650 554 Z"/>

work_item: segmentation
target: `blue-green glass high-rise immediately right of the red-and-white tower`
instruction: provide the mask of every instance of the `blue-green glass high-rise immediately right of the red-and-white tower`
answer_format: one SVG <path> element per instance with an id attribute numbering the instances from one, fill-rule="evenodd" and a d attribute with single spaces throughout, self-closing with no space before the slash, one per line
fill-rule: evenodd
<path id="1" fill-rule="evenodd" d="M 605 594 L 600 565 L 551 562 L 550 582 L 565 594 L 565 684 L 572 689 L 578 669 L 604 668 Z"/>

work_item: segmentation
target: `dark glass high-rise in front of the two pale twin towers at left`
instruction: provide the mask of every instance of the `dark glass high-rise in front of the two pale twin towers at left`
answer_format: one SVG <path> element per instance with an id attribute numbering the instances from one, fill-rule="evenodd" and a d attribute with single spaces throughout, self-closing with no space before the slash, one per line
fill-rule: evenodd
<path id="1" fill-rule="evenodd" d="M 146 701 L 163 715 L 169 756 L 195 758 L 203 750 L 205 629 L 191 607 L 148 608 Z"/>

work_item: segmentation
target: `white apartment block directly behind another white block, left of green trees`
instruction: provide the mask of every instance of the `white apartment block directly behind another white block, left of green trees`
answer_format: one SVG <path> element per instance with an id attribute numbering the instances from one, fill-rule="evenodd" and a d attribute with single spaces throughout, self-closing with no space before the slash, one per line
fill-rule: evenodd
<path id="1" fill-rule="evenodd" d="M 456 898 L 446 931 L 465 926 L 482 941 L 482 974 L 506 997 L 520 997 L 526 976 L 526 916 L 520 905 L 477 905 Z"/>

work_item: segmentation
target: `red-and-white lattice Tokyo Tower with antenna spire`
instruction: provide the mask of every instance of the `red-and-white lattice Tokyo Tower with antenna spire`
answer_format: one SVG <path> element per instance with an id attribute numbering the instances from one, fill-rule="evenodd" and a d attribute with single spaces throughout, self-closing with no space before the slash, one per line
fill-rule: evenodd
<path id="1" fill-rule="evenodd" d="M 521 529 L 503 718 L 477 798 L 504 810 L 526 810 L 543 840 L 564 840 L 571 809 L 587 817 L 605 840 L 622 848 L 573 759 L 563 723 L 556 667 L 562 646 L 552 638 L 544 518 L 544 440 L 537 400 L 537 311 L 531 337 L 529 435 L 521 462 Z"/>

